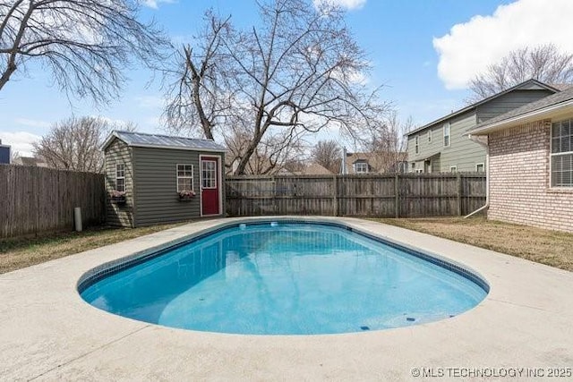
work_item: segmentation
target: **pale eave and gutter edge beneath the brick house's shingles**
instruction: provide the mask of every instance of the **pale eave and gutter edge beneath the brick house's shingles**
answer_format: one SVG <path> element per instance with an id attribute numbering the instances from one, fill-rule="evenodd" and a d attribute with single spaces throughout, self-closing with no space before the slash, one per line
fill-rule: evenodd
<path id="1" fill-rule="evenodd" d="M 487 135 L 491 132 L 499 132 L 500 130 L 509 129 L 520 124 L 532 123 L 543 119 L 559 119 L 560 117 L 571 114 L 573 114 L 573 99 L 569 99 L 557 105 L 543 107 L 543 109 L 534 110 L 523 115 L 516 115 L 500 122 L 486 124 L 467 132 L 466 135 Z"/>

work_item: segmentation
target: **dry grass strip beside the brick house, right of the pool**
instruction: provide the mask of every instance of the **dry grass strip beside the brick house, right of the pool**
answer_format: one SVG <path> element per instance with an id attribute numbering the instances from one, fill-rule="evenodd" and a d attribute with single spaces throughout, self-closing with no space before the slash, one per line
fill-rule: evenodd
<path id="1" fill-rule="evenodd" d="M 573 271 L 573 234 L 484 217 L 372 219 Z"/>

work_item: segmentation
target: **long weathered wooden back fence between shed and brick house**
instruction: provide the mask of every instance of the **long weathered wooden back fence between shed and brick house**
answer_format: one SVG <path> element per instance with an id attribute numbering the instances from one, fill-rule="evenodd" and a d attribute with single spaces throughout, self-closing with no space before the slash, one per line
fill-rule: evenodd
<path id="1" fill-rule="evenodd" d="M 229 216 L 459 216 L 485 204 L 485 174 L 230 176 Z"/>

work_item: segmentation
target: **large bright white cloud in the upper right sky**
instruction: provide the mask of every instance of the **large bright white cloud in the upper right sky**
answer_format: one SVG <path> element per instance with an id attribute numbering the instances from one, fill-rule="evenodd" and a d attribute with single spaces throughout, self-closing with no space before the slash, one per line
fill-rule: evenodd
<path id="1" fill-rule="evenodd" d="M 573 52 L 573 1 L 518 0 L 492 15 L 476 15 L 433 39 L 438 75 L 448 89 L 466 89 L 476 74 L 510 51 L 552 43 Z"/>

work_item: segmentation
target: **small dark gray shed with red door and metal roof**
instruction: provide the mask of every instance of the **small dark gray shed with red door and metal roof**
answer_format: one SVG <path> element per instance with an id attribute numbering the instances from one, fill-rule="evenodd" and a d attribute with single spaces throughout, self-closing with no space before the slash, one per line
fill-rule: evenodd
<path id="1" fill-rule="evenodd" d="M 102 150 L 107 224 L 139 227 L 224 215 L 226 149 L 213 140 L 114 131 Z"/>

